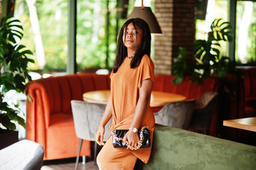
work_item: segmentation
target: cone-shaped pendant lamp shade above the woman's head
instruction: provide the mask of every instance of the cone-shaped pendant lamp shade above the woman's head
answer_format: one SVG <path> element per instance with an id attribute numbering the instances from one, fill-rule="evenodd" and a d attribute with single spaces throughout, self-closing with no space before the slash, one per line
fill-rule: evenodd
<path id="1" fill-rule="evenodd" d="M 150 7 L 145 6 L 144 10 L 141 10 L 140 7 L 135 6 L 128 19 L 130 18 L 141 18 L 148 23 L 151 33 L 162 34 L 162 30 L 157 22 L 157 18 L 155 18 L 155 15 L 152 13 Z"/>

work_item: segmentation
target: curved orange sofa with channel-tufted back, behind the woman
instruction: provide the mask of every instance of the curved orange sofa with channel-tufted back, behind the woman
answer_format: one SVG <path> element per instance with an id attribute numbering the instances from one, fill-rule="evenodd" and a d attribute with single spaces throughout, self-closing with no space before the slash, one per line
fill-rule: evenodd
<path id="1" fill-rule="evenodd" d="M 214 79 L 194 84 L 185 78 L 178 86 L 172 84 L 172 79 L 174 77 L 170 75 L 155 74 L 153 90 L 182 94 L 187 99 L 216 91 Z M 27 84 L 26 91 L 32 101 L 26 102 L 26 138 L 43 146 L 44 160 L 77 156 L 79 139 L 74 131 L 70 101 L 82 101 L 84 92 L 104 89 L 110 89 L 109 75 L 71 74 L 38 79 Z M 160 108 L 153 109 L 159 111 Z M 210 132 L 210 135 L 214 134 Z M 81 155 L 90 154 L 90 142 L 86 141 Z"/>

